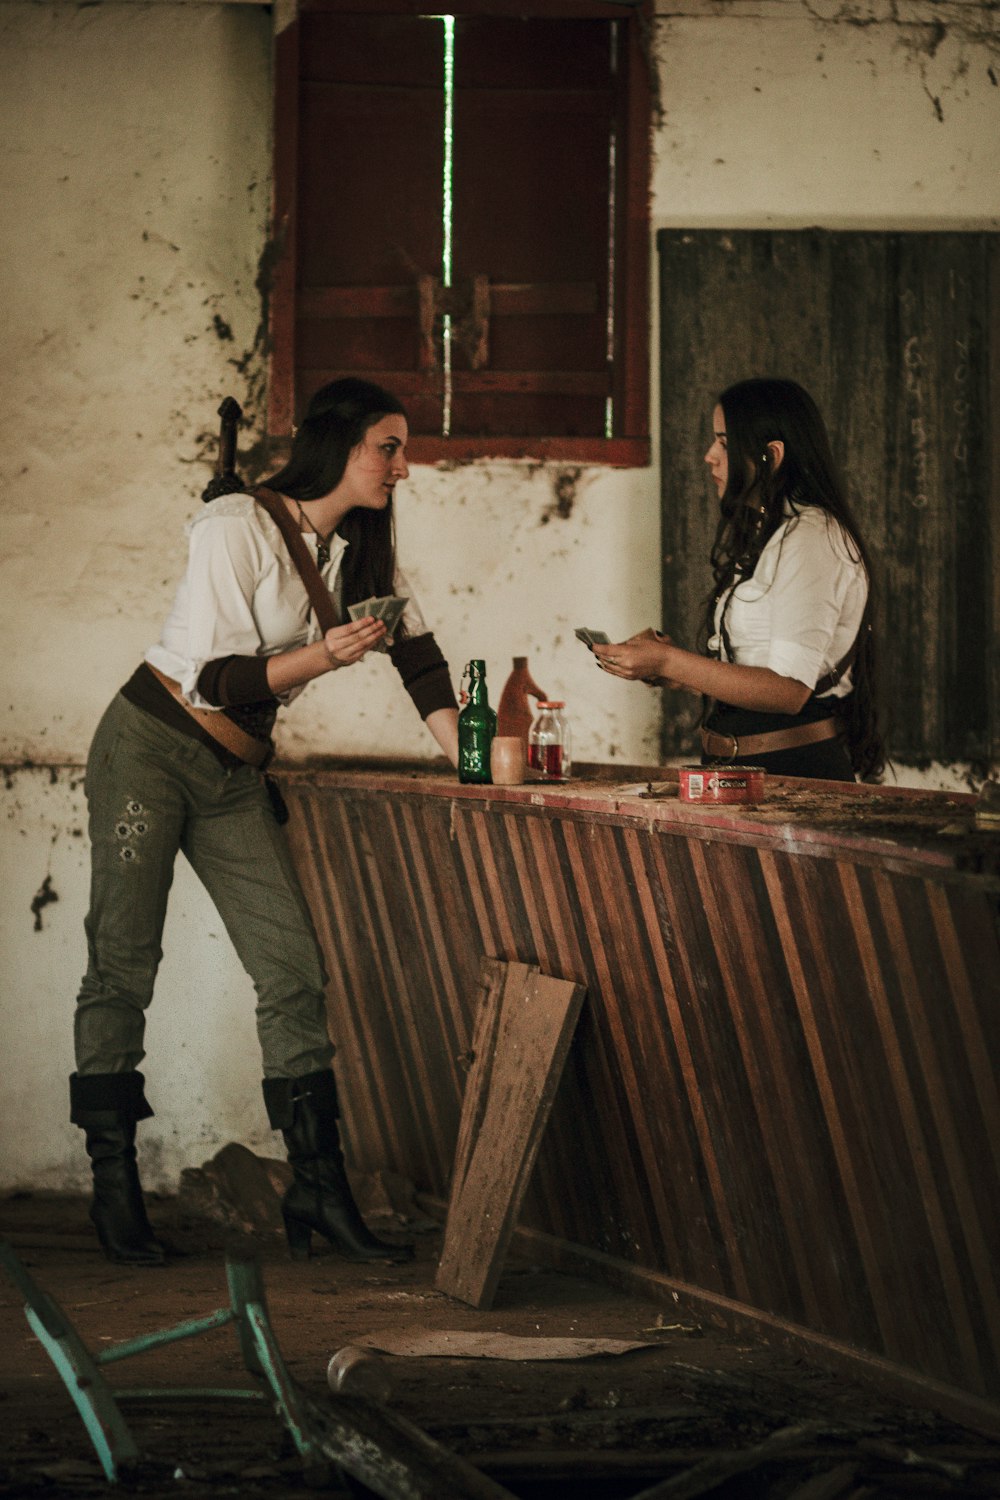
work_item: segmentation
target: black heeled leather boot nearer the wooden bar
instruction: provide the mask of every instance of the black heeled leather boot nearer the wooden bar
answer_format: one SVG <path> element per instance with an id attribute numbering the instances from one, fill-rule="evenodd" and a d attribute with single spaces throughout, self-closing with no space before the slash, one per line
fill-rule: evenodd
<path id="1" fill-rule="evenodd" d="M 340 1150 L 333 1074 L 264 1078 L 264 1104 L 273 1130 L 280 1130 L 285 1137 L 295 1174 L 282 1202 L 292 1258 L 309 1256 L 315 1230 L 345 1260 L 409 1260 L 412 1245 L 390 1245 L 378 1239 L 354 1202 Z"/>

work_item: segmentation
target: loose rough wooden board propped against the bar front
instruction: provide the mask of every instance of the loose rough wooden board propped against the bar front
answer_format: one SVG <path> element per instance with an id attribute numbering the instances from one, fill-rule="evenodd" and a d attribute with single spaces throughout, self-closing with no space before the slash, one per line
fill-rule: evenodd
<path id="1" fill-rule="evenodd" d="M 490 1306 L 580 1016 L 582 984 L 484 957 L 438 1292 Z"/>

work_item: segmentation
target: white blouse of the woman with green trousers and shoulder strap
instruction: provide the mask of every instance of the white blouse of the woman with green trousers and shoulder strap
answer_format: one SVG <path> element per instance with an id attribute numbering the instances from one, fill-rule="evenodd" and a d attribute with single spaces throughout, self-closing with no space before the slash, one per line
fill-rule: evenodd
<path id="1" fill-rule="evenodd" d="M 228 656 L 276 656 L 309 645 L 321 636 L 309 608 L 306 585 L 295 570 L 282 534 L 252 495 L 223 495 L 187 522 L 187 572 L 156 645 L 145 660 L 180 682 L 195 708 L 217 710 L 198 692 L 208 662 Z M 303 532 L 316 561 L 316 537 Z M 322 578 L 343 618 L 340 568 L 349 543 L 334 534 Z M 397 568 L 394 592 L 408 597 L 403 621 L 411 636 L 424 634 L 420 606 Z M 277 694 L 289 704 L 301 693 L 292 687 Z"/>

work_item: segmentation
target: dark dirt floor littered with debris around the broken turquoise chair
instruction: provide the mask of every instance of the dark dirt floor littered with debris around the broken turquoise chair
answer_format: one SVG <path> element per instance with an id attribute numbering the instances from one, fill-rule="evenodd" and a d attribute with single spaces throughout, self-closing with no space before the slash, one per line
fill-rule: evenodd
<path id="1" fill-rule="evenodd" d="M 151 1198 L 150 1215 L 175 1256 L 165 1268 L 123 1269 L 97 1251 L 85 1209 L 81 1198 L 9 1197 L 0 1202 L 0 1238 L 67 1314 L 90 1353 L 228 1305 L 231 1227 L 193 1214 L 183 1197 Z M 375 1412 L 369 1434 L 375 1431 L 378 1442 L 388 1431 L 379 1428 L 379 1413 L 396 1420 L 396 1436 L 399 1418 L 406 1419 L 475 1466 L 483 1488 L 463 1488 L 442 1472 L 430 1488 L 373 1491 L 334 1466 L 325 1474 L 333 1500 L 372 1492 L 618 1500 L 652 1486 L 657 1500 L 1000 1496 L 1000 1443 L 982 1432 L 787 1352 L 679 1320 L 676 1308 L 511 1258 L 493 1306 L 477 1312 L 435 1290 L 441 1232 L 429 1221 L 417 1228 L 417 1258 L 408 1264 L 351 1266 L 331 1252 L 292 1263 L 271 1232 L 244 1234 L 235 1245 L 261 1264 L 277 1342 L 324 1432 L 337 1418 L 330 1359 L 367 1335 L 498 1332 L 636 1340 L 649 1347 L 559 1362 L 441 1356 L 361 1362 L 354 1392 L 345 1382 L 339 1396 L 348 1425 L 357 1419 L 364 1426 L 364 1413 Z M 0 1272 L 0 1497 L 291 1500 L 316 1492 L 324 1480 L 306 1473 L 282 1424 L 262 1404 L 142 1398 L 123 1404 L 142 1458 L 109 1491 L 22 1306 L 19 1290 Z M 105 1368 L 112 1388 L 252 1384 L 231 1326 Z M 372 1396 L 382 1396 L 384 1407 L 372 1406 Z"/>

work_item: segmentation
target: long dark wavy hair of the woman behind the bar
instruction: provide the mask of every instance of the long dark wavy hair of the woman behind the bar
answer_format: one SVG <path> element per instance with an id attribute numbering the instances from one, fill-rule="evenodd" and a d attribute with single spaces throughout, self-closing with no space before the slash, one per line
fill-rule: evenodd
<path id="1" fill-rule="evenodd" d="M 873 568 L 831 450 L 826 423 L 810 393 L 790 380 L 738 381 L 718 396 L 718 405 L 726 418 L 729 480 L 712 543 L 714 586 L 705 604 L 703 630 L 706 634 L 715 632 L 718 600 L 724 597 L 720 634 L 732 657 L 726 616 L 733 585 L 754 572 L 760 554 L 787 520 L 789 512 L 798 514 L 807 506 L 816 506 L 832 516 L 868 576 L 868 602 L 852 663 L 853 690 L 838 710 L 855 771 L 862 777 L 877 776 L 886 758 L 876 692 Z M 777 470 L 768 452 L 768 444 L 775 441 L 784 444 L 784 458 Z"/>

